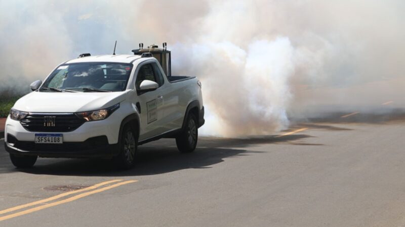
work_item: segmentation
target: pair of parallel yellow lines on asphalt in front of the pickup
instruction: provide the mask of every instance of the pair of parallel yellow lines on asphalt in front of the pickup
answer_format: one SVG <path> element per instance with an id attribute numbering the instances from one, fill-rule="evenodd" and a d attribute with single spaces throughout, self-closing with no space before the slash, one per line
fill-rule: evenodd
<path id="1" fill-rule="evenodd" d="M 119 183 L 117 183 L 117 182 L 119 182 Z M 89 196 L 89 195 L 93 195 L 93 194 L 96 194 L 96 193 L 99 193 L 99 192 L 103 192 L 103 191 L 106 191 L 106 190 L 109 190 L 109 189 L 112 189 L 112 188 L 119 187 L 121 185 L 126 185 L 126 184 L 130 184 L 130 183 L 135 183 L 135 182 L 137 182 L 137 181 L 136 180 L 131 180 L 131 181 L 123 181 L 123 180 L 106 181 L 106 182 L 102 182 L 102 183 L 99 183 L 99 184 L 96 184 L 96 185 L 93 185 L 93 186 L 90 186 L 90 187 L 87 187 L 87 188 L 83 188 L 83 189 L 79 189 L 79 190 L 75 190 L 75 191 L 71 191 L 71 192 L 65 192 L 65 193 L 62 193 L 62 194 L 59 194 L 59 195 L 56 195 L 56 196 L 52 196 L 52 197 L 47 198 L 47 199 L 43 199 L 43 200 L 35 201 L 35 202 L 32 202 L 32 203 L 27 203 L 27 204 L 11 207 L 11 208 L 8 208 L 8 209 L 5 209 L 5 210 L 0 210 L 0 215 L 2 215 L 2 214 L 5 214 L 5 213 L 10 213 L 10 212 L 16 211 L 16 210 L 21 210 L 21 209 L 24 209 L 24 208 L 27 208 L 27 207 L 39 205 L 39 206 L 35 206 L 33 208 L 26 209 L 26 210 L 23 210 L 23 211 L 19 211 L 19 212 L 16 212 L 16 213 L 8 214 L 8 215 L 5 215 L 5 216 L 0 216 L 0 221 L 7 220 L 7 219 L 10 219 L 10 218 L 13 218 L 13 217 L 18 217 L 18 216 L 21 216 L 21 215 L 24 215 L 24 214 L 32 213 L 32 212 L 35 212 L 35 211 L 38 211 L 38 210 L 43 210 L 45 208 L 49 208 L 49 207 L 52 207 L 52 206 L 57 206 L 57 205 L 60 205 L 60 204 L 72 202 L 74 200 L 77 200 L 77 199 L 80 199 L 80 198 L 83 198 L 83 197 L 86 197 L 86 196 Z M 116 184 L 109 185 L 109 184 L 112 184 L 112 183 L 116 183 Z M 99 187 L 105 186 L 105 185 L 109 185 L 109 186 L 99 188 Z M 97 189 L 97 188 L 99 188 L 99 189 Z M 94 189 L 96 189 L 96 190 L 94 190 Z M 91 191 L 91 190 L 93 190 L 93 191 Z M 62 197 L 66 197 L 66 196 L 81 193 L 81 192 L 84 192 L 84 193 L 69 197 L 67 199 L 63 199 L 63 200 L 59 200 L 59 201 L 56 201 L 56 202 L 48 203 L 50 201 L 54 201 L 54 200 L 60 199 Z"/>

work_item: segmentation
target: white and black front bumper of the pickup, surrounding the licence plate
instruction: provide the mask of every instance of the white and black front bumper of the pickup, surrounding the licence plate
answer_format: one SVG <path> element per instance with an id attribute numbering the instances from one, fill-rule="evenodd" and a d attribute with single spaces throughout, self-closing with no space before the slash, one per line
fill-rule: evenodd
<path id="1" fill-rule="evenodd" d="M 24 129 L 19 121 L 6 121 L 6 151 L 16 155 L 36 155 L 40 157 L 112 157 L 119 152 L 118 131 L 110 119 L 97 122 L 86 122 L 72 132 L 61 132 L 62 144 L 35 143 L 35 134 Z"/>

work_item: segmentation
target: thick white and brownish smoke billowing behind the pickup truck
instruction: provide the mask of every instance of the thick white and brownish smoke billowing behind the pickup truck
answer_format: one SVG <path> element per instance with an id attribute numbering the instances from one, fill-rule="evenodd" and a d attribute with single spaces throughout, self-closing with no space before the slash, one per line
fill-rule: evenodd
<path id="1" fill-rule="evenodd" d="M 400 0 L 0 0 L 0 89 L 115 40 L 119 53 L 167 41 L 173 73 L 203 83 L 205 134 L 269 134 L 294 117 L 403 107 L 404 11 Z"/>

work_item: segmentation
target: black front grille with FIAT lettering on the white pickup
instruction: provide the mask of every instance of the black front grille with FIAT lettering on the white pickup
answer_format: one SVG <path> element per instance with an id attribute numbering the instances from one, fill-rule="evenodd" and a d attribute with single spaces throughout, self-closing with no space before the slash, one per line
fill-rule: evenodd
<path id="1" fill-rule="evenodd" d="M 29 113 L 20 122 L 30 132 L 71 132 L 86 121 L 74 113 Z"/>

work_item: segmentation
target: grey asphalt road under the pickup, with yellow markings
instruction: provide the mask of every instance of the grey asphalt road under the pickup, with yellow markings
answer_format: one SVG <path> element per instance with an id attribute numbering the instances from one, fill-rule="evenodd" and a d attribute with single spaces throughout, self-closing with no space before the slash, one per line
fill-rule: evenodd
<path id="1" fill-rule="evenodd" d="M 0 140 L 0 226 L 405 225 L 405 120 L 311 122 L 251 139 L 201 137 L 190 154 L 160 140 L 140 146 L 124 172 L 106 160 L 44 158 L 17 170 Z"/>

